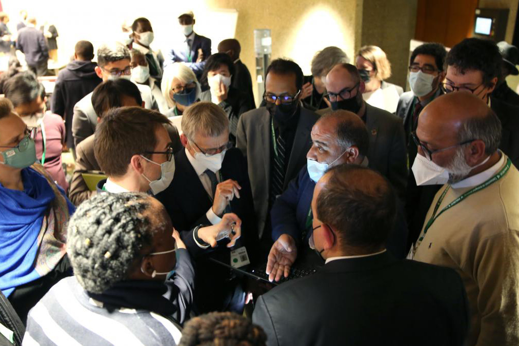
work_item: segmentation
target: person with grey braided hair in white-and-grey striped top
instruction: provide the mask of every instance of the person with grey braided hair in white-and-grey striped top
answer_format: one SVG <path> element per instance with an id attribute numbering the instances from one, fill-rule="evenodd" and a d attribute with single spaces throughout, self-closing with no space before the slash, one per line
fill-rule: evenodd
<path id="1" fill-rule="evenodd" d="M 194 270 L 164 206 L 145 193 L 100 193 L 67 228 L 74 275 L 31 310 L 24 341 L 176 345 Z"/>

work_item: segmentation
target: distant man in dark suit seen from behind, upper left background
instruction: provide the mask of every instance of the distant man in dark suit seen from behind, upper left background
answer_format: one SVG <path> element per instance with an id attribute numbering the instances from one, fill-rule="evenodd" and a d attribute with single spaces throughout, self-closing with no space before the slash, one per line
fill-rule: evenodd
<path id="1" fill-rule="evenodd" d="M 37 76 L 48 74 L 47 62 L 49 60 L 49 49 L 45 36 L 36 29 L 36 19 L 29 18 L 28 25 L 18 31 L 16 49 L 25 54 L 25 62 Z"/>

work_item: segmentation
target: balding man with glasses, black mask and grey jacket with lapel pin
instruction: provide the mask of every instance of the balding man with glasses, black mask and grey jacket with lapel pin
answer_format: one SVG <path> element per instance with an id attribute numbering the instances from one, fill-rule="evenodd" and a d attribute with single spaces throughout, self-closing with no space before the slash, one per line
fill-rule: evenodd
<path id="1" fill-rule="evenodd" d="M 369 167 L 387 177 L 403 201 L 408 172 L 402 121 L 362 99 L 364 81 L 357 67 L 351 64 L 335 65 L 326 75 L 324 85 L 332 110 L 349 110 L 364 121 L 370 134 L 370 149 L 367 153 Z M 321 109 L 318 113 L 327 112 L 330 112 L 330 108 Z"/>

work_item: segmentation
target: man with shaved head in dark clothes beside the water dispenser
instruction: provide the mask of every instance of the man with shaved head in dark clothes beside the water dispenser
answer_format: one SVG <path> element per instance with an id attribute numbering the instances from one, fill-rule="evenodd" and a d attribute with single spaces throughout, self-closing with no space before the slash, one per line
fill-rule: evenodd
<path id="1" fill-rule="evenodd" d="M 247 66 L 240 60 L 241 46 L 237 39 L 224 39 L 218 44 L 218 53 L 226 53 L 234 61 L 235 72 L 231 85 L 249 95 L 252 109 L 256 108 L 252 92 L 252 78 Z"/>

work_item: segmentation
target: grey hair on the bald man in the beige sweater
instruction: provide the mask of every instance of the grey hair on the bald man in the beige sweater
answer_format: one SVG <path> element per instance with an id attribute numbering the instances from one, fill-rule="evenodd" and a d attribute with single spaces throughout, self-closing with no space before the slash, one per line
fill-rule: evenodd
<path id="1" fill-rule="evenodd" d="M 483 117 L 471 117 L 461 124 L 458 131 L 459 143 L 481 140 L 485 143 L 485 154 L 492 155 L 501 142 L 501 121 L 494 110 L 488 108 Z"/>

